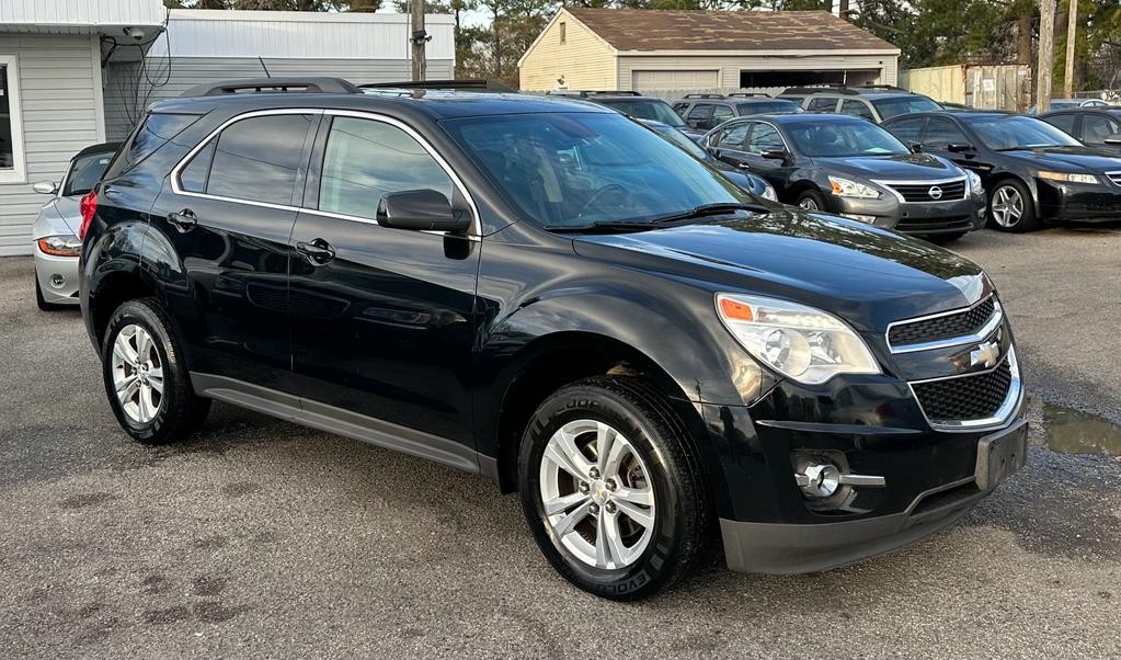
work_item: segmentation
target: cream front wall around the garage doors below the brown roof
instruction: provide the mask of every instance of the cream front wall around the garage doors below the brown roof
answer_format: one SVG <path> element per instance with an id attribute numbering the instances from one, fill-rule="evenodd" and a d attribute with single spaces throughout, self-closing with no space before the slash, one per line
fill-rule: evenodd
<path id="1" fill-rule="evenodd" d="M 740 86 L 740 71 L 819 71 L 819 70 L 879 70 L 876 82 L 896 84 L 898 56 L 896 55 L 619 55 L 617 89 L 630 90 L 634 72 L 648 71 L 696 72 L 696 88 L 711 88 L 711 72 L 719 72 L 723 89 Z M 708 73 L 703 73 L 708 72 Z M 642 76 L 642 74 L 640 74 Z M 705 84 L 701 84 L 705 83 Z M 689 88 L 682 88 L 689 89 Z"/>

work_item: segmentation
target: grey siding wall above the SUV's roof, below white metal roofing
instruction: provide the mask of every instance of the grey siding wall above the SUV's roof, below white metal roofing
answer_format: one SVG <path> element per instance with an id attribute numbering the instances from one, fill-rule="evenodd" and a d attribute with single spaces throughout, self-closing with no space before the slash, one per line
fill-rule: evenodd
<path id="1" fill-rule="evenodd" d="M 203 83 L 231 79 L 339 76 L 353 83 L 405 81 L 413 77 L 408 59 L 314 59 L 279 57 L 149 57 L 147 75 L 139 63 L 110 63 L 105 71 L 105 132 L 126 137 L 145 108 L 179 97 Z M 452 59 L 428 59 L 428 77 L 455 77 Z M 151 79 L 157 85 L 148 82 Z"/>

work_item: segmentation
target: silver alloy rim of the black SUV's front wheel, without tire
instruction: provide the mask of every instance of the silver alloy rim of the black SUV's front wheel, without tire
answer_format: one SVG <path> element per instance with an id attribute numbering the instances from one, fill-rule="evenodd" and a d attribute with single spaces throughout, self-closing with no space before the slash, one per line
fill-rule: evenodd
<path id="1" fill-rule="evenodd" d="M 546 521 L 584 563 L 630 566 L 654 537 L 649 475 L 634 447 L 609 424 L 568 422 L 549 438 L 541 457 Z"/>

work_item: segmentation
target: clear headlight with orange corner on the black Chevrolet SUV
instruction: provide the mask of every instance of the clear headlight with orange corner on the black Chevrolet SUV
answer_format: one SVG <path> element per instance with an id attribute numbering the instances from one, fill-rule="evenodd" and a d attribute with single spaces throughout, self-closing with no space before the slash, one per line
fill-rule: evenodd
<path id="1" fill-rule="evenodd" d="M 752 357 L 807 385 L 837 374 L 879 374 L 864 341 L 841 319 L 798 303 L 716 294 L 720 320 Z"/>

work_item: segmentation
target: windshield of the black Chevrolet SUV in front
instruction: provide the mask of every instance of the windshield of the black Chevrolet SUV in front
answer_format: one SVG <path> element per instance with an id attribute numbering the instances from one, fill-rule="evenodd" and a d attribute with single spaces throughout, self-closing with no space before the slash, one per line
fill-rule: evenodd
<path id="1" fill-rule="evenodd" d="M 442 126 L 520 216 L 549 227 L 649 222 L 752 198 L 642 126 L 614 113 L 550 112 Z"/>

